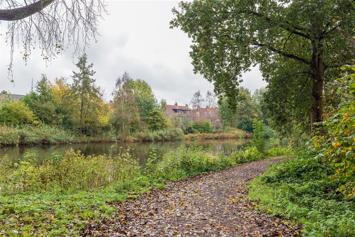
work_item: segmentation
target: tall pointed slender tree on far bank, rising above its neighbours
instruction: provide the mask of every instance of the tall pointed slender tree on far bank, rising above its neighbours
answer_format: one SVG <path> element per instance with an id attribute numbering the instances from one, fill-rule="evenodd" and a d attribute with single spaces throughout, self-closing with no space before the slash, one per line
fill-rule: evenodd
<path id="1" fill-rule="evenodd" d="M 80 131 L 84 131 L 84 121 L 90 118 L 92 113 L 95 113 L 93 107 L 97 107 L 96 101 L 100 99 L 100 90 L 95 86 L 95 79 L 92 78 L 96 73 L 92 68 L 94 64 L 87 65 L 87 56 L 84 53 L 79 58 L 76 64 L 79 72 L 72 72 L 73 84 L 71 86 L 71 93 L 79 102 L 79 127 Z"/>

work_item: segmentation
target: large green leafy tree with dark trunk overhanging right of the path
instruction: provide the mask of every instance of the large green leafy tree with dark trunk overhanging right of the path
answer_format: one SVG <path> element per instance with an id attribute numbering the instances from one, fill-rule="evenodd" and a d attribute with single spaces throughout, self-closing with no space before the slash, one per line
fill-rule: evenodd
<path id="1" fill-rule="evenodd" d="M 259 64 L 269 83 L 293 80 L 291 95 L 306 87 L 310 102 L 301 106 L 310 108 L 313 124 L 322 120 L 323 84 L 353 62 L 354 6 L 353 0 L 194 0 L 173 9 L 171 27 L 192 39 L 194 71 L 213 81 L 218 95 L 234 103 L 241 73 Z"/>

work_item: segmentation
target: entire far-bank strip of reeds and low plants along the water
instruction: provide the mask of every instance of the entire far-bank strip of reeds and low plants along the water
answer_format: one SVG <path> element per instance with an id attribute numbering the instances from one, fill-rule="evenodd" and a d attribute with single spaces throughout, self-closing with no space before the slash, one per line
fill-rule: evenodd
<path id="1" fill-rule="evenodd" d="M 76 132 L 62 127 L 49 125 L 0 125 L 0 147 L 36 144 L 68 144 L 68 143 L 94 143 L 94 142 L 143 142 L 143 141 L 178 141 L 178 140 L 203 140 L 203 139 L 230 139 L 250 138 L 251 134 L 243 130 L 228 133 L 194 133 L 184 135 L 179 128 L 165 130 L 145 131 L 128 134 L 124 138 L 107 131 L 96 136 L 78 135 Z"/>

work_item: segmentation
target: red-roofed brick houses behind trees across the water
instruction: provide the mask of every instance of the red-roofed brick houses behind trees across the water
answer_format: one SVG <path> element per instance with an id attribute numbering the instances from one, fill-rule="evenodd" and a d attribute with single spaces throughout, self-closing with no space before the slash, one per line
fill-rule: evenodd
<path id="1" fill-rule="evenodd" d="M 206 121 L 209 120 L 214 127 L 220 126 L 220 115 L 218 108 L 197 108 L 190 109 L 188 105 L 178 106 L 175 102 L 174 105 L 166 106 L 166 115 L 174 117 L 187 117 L 190 121 Z"/>

